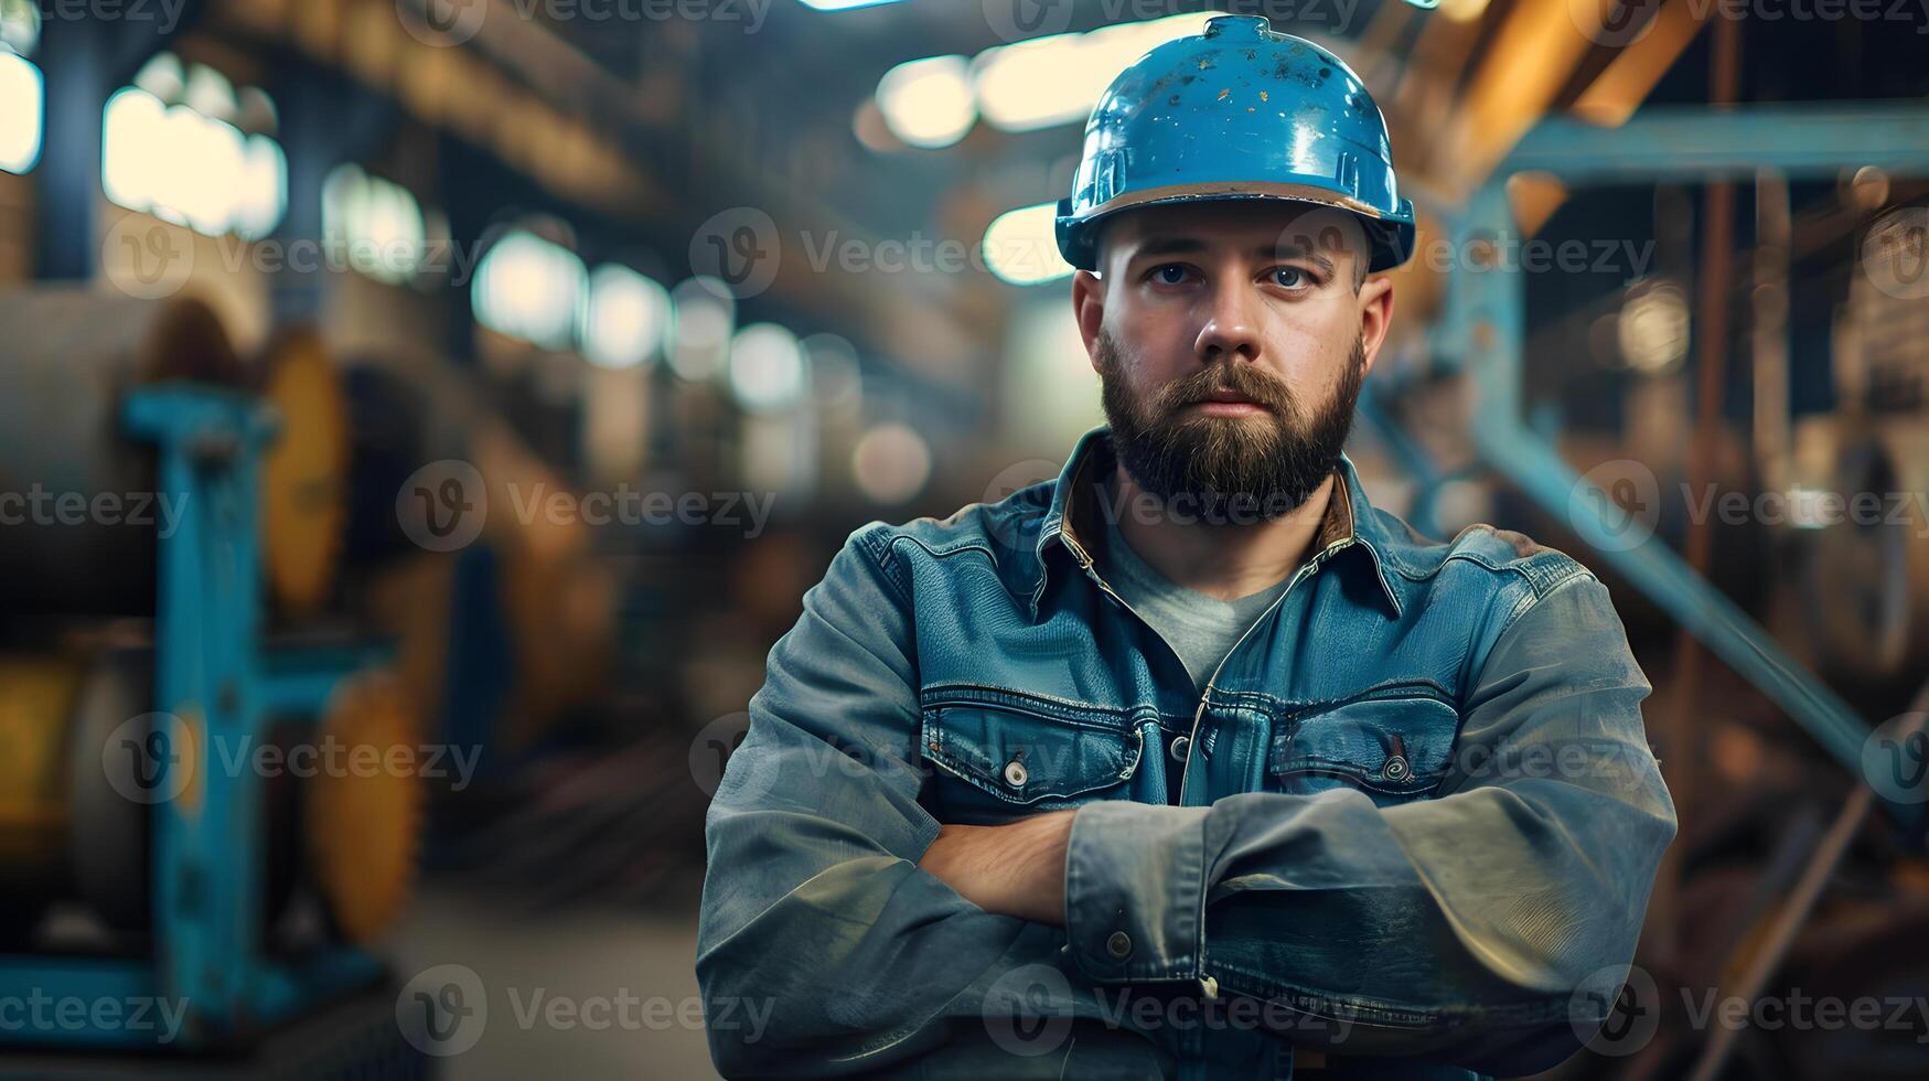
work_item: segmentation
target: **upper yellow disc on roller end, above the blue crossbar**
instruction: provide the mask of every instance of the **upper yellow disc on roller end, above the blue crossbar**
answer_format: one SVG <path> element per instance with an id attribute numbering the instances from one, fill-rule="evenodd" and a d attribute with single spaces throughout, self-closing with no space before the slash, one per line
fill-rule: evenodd
<path id="1" fill-rule="evenodd" d="M 268 347 L 262 396 L 282 413 L 260 471 L 262 568 L 276 610 L 301 616 L 328 598 L 341 558 L 347 400 L 312 330 L 285 332 Z"/>

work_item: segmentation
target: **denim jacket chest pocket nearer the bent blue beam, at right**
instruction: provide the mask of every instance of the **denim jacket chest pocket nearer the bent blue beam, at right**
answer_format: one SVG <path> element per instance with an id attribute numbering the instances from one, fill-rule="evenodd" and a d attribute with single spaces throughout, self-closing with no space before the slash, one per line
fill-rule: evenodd
<path id="1" fill-rule="evenodd" d="M 1279 791 L 1356 788 L 1387 807 L 1431 795 L 1447 776 L 1460 712 L 1435 697 L 1372 697 L 1306 707 L 1273 734 Z"/>

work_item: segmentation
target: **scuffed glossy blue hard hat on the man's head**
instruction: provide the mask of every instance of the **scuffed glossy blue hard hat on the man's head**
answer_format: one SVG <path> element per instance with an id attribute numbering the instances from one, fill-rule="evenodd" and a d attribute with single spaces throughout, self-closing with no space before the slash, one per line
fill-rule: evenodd
<path id="1" fill-rule="evenodd" d="M 1414 203 L 1393 176 L 1387 122 L 1339 56 L 1258 15 L 1219 15 L 1127 68 L 1086 122 L 1073 197 L 1059 199 L 1065 261 L 1098 270 L 1098 222 L 1130 207 L 1291 199 L 1350 210 L 1368 270 L 1414 249 Z"/>

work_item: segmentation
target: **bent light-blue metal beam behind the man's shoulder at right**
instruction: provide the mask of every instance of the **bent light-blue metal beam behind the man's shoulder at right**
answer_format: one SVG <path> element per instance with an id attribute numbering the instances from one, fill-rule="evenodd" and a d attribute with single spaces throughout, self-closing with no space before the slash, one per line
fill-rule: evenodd
<path id="1" fill-rule="evenodd" d="M 1549 120 L 1532 129 L 1466 207 L 1449 214 L 1454 251 L 1516 232 L 1507 180 L 1545 172 L 1566 183 L 1715 180 L 1773 168 L 1788 178 L 1834 178 L 1881 166 L 1929 176 L 1929 106 L 1775 106 L 1742 110 L 1651 108 L 1622 127 Z M 1458 263 L 1458 261 L 1456 261 Z M 1472 440 L 1480 456 L 1549 513 L 1574 523 L 1615 568 L 1711 652 L 1759 687 L 1846 770 L 1861 778 L 1869 726 L 1802 668 L 1726 595 L 1657 537 L 1626 546 L 1605 515 L 1613 500 L 1584 481 L 1522 417 L 1526 291 L 1518 272 L 1456 270 L 1431 344 L 1441 367 L 1476 386 Z M 1921 807 L 1890 805 L 1904 822 Z"/>

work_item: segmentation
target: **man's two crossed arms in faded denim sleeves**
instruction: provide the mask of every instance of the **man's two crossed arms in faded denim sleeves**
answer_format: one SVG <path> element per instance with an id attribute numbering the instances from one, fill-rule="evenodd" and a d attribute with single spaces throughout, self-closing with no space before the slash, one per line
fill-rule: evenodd
<path id="1" fill-rule="evenodd" d="M 1024 965 L 1074 996 L 1209 973 L 1346 1019 L 1354 1054 L 1530 1073 L 1580 1046 L 1576 990 L 1634 954 L 1674 811 L 1647 681 L 1591 577 L 1516 616 L 1478 674 L 1460 739 L 1489 768 L 1385 809 L 1244 793 L 941 826 L 918 801 L 912 641 L 903 585 L 853 535 L 772 651 L 706 828 L 706 1002 L 770 1006 L 762 1033 L 710 1031 L 729 1075 L 922 1054 Z M 1514 768 L 1566 747 L 1589 768 Z M 1601 1017 L 1615 990 L 1591 988 Z"/>

